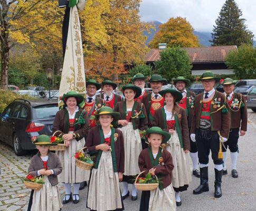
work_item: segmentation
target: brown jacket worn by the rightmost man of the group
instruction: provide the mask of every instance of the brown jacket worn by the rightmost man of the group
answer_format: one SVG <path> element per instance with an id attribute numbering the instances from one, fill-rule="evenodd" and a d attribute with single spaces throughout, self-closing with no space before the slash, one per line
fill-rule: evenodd
<path id="1" fill-rule="evenodd" d="M 234 92 L 233 99 L 242 99 L 242 102 L 244 103 L 244 107 L 242 108 L 230 108 L 231 112 L 231 127 L 230 128 L 240 128 L 241 130 L 247 131 L 247 105 L 246 101 L 244 99 L 244 95 L 240 93 Z"/>

